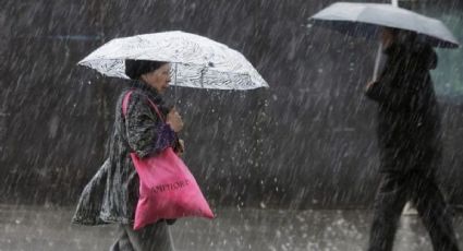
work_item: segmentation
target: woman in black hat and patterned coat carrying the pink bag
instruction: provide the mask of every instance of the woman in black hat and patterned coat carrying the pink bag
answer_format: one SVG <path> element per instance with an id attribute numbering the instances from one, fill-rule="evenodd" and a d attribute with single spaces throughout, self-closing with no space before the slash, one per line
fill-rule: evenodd
<path id="1" fill-rule="evenodd" d="M 173 246 L 168 225 L 172 220 L 159 220 L 133 230 L 139 181 L 130 156 L 136 153 L 144 158 L 170 146 L 178 153 L 183 151 L 176 138 L 183 121 L 161 97 L 169 87 L 170 64 L 125 60 L 125 73 L 133 81 L 117 103 L 109 157 L 85 187 L 73 222 L 85 225 L 118 223 L 120 234 L 110 248 L 113 251 L 170 251 Z M 122 109 L 124 99 L 125 111 Z"/>

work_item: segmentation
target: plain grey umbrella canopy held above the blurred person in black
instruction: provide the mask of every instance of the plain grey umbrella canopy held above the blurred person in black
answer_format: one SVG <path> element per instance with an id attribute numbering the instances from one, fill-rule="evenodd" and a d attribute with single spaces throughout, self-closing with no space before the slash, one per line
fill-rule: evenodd
<path id="1" fill-rule="evenodd" d="M 391 4 L 338 2 L 309 20 L 341 33 L 367 37 L 376 36 L 379 27 L 400 28 L 417 33 L 421 39 L 436 47 L 459 47 L 459 41 L 439 20 Z"/>

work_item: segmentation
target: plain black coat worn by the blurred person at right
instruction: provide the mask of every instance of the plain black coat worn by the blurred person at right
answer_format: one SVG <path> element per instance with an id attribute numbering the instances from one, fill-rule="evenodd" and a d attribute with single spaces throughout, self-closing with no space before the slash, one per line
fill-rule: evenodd
<path id="1" fill-rule="evenodd" d="M 434 169 L 441 154 L 440 118 L 429 70 L 437 56 L 429 45 L 394 44 L 366 95 L 378 103 L 381 170 Z"/>

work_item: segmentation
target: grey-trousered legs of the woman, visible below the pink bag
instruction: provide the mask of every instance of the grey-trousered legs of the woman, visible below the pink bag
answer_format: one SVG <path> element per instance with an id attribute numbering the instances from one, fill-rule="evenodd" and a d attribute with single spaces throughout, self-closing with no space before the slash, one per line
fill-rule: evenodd
<path id="1" fill-rule="evenodd" d="M 139 230 L 124 225 L 125 232 L 136 251 L 173 251 L 173 244 L 166 220 L 148 225 Z"/>

